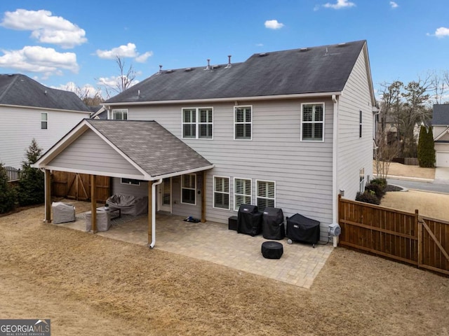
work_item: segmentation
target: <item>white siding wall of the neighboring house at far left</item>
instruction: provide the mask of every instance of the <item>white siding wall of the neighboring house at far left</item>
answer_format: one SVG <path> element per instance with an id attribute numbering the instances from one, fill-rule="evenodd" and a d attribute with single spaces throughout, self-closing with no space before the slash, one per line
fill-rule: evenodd
<path id="1" fill-rule="evenodd" d="M 48 129 L 41 130 L 41 112 L 48 113 Z M 87 112 L 51 111 L 0 106 L 0 162 L 20 168 L 32 139 L 45 153 L 83 118 Z"/>

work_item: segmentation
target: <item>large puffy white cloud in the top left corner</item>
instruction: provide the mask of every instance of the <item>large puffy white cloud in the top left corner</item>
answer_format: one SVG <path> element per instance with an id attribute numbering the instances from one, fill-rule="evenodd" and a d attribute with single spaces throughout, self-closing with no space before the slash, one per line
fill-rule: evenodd
<path id="1" fill-rule="evenodd" d="M 53 16 L 49 10 L 18 9 L 6 12 L 0 25 L 15 30 L 31 30 L 32 38 L 41 43 L 74 48 L 87 42 L 86 31 L 72 22 Z"/>

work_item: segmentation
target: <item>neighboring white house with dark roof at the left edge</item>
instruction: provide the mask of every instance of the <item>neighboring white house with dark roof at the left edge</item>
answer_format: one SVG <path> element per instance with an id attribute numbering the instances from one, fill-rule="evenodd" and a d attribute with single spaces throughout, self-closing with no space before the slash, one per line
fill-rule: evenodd
<path id="1" fill-rule="evenodd" d="M 73 92 L 18 73 L 0 74 L 0 162 L 20 168 L 32 139 L 44 153 L 91 110 Z"/>

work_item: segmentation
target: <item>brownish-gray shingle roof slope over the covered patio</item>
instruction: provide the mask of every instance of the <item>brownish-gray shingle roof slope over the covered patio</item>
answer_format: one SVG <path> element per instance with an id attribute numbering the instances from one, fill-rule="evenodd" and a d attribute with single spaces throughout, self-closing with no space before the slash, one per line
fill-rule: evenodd
<path id="1" fill-rule="evenodd" d="M 86 119 L 150 176 L 212 164 L 155 121 Z"/>

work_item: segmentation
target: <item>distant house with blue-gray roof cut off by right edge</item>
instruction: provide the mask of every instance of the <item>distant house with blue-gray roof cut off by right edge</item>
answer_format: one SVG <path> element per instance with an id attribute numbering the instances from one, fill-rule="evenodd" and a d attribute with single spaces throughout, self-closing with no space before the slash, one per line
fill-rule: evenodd
<path id="1" fill-rule="evenodd" d="M 449 105 L 435 104 L 432 116 L 436 167 L 449 167 Z"/>

